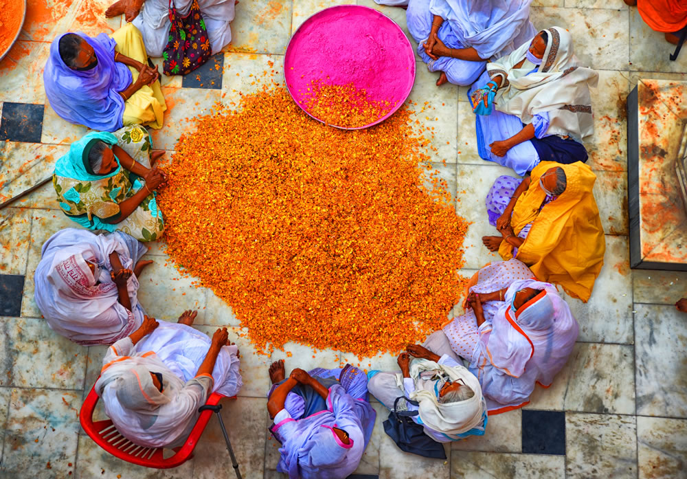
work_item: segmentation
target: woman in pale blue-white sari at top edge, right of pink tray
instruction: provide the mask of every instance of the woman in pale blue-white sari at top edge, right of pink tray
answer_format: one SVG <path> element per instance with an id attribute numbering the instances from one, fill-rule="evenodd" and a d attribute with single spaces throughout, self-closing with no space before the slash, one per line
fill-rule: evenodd
<path id="1" fill-rule="evenodd" d="M 408 31 L 436 85 L 471 85 L 488 60 L 513 52 L 537 30 L 530 22 L 532 0 L 375 0 L 407 5 Z"/>

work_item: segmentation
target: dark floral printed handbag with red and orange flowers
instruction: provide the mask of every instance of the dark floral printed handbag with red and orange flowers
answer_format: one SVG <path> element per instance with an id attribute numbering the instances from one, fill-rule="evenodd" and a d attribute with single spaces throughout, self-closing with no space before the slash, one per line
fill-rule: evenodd
<path id="1" fill-rule="evenodd" d="M 166 75 L 185 75 L 200 67 L 210 58 L 210 38 L 198 1 L 193 0 L 186 16 L 177 13 L 174 0 L 170 0 L 170 32 L 162 57 L 162 71 Z"/>

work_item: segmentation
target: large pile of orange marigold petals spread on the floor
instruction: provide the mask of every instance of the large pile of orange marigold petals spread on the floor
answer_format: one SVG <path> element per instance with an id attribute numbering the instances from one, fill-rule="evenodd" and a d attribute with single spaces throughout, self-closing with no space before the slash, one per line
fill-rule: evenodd
<path id="1" fill-rule="evenodd" d="M 256 349 L 368 356 L 440 328 L 464 286 L 467 223 L 406 107 L 344 131 L 263 87 L 195 126 L 159 195 L 168 254 L 232 306 Z"/>

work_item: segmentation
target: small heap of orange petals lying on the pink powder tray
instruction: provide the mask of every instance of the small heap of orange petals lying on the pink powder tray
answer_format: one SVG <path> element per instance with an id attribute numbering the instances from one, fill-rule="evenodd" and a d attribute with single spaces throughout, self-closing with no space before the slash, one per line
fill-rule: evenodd
<path id="1" fill-rule="evenodd" d="M 369 98 L 365 89 L 357 89 L 352 83 L 328 85 L 322 80 L 313 80 L 308 91 L 300 96 L 308 113 L 340 128 L 360 128 L 374 123 L 395 106 Z"/>

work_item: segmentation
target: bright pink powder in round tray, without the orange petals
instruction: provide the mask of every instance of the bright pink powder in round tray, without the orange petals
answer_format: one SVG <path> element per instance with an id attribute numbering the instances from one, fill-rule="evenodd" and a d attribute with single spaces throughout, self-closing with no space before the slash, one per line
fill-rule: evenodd
<path id="1" fill-rule="evenodd" d="M 382 118 L 351 129 L 367 128 L 389 118 L 405 102 L 415 81 L 415 52 L 389 17 L 361 5 L 339 5 L 317 12 L 298 27 L 286 47 L 284 80 L 304 111 L 304 93 L 313 80 L 352 83 L 365 89 L 371 100 L 394 105 Z"/>

